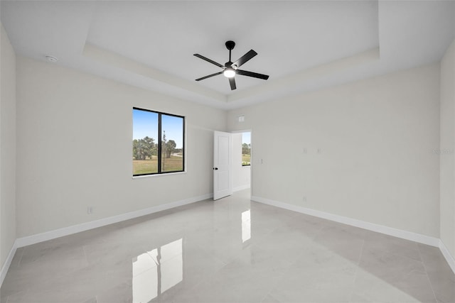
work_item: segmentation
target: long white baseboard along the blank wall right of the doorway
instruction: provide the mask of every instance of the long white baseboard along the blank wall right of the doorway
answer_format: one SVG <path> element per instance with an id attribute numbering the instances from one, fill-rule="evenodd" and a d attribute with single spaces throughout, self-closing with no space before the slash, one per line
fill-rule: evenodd
<path id="1" fill-rule="evenodd" d="M 319 218 L 328 219 L 331 221 L 336 221 L 339 223 L 347 224 L 350 226 L 355 226 L 363 229 L 368 229 L 369 231 L 375 231 L 378 233 L 385 233 L 389 236 L 394 236 L 397 238 L 403 238 L 406 240 L 414 241 L 417 243 L 427 244 L 429 246 L 439 247 L 440 240 L 439 238 L 434 238 L 431 236 L 425 236 L 419 233 L 413 233 L 411 231 L 403 231 L 398 228 L 392 228 L 388 226 L 383 226 L 379 224 L 370 223 L 367 221 L 360 221 L 357 219 L 348 218 L 346 216 L 338 216 L 336 214 L 330 214 L 325 211 L 318 211 L 315 209 L 307 209 L 302 206 L 296 206 L 292 204 L 287 204 L 283 202 L 278 202 L 270 199 L 264 199 L 262 197 L 251 197 L 252 201 L 260 202 L 264 204 L 269 204 L 272 206 L 277 206 L 282 209 L 289 209 L 291 211 L 297 211 L 302 214 L 309 214 L 310 216 L 317 216 Z"/>

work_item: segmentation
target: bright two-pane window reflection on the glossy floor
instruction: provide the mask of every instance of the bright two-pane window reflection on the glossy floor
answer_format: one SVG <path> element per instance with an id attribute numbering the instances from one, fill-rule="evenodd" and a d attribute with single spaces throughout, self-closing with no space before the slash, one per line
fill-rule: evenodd
<path id="1" fill-rule="evenodd" d="M 183 239 L 133 258 L 133 302 L 149 302 L 183 280 Z"/>

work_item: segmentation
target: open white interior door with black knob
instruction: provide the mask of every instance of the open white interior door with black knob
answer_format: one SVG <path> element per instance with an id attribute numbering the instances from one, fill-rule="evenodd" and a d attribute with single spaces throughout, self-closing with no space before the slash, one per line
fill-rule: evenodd
<path id="1" fill-rule="evenodd" d="M 232 194 L 232 137 L 215 131 L 213 136 L 213 199 Z"/>

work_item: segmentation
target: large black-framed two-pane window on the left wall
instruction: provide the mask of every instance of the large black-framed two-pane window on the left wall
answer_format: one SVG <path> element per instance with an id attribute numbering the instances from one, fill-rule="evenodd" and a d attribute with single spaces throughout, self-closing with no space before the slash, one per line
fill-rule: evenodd
<path id="1" fill-rule="evenodd" d="M 133 176 L 183 172 L 185 117 L 133 108 Z"/>

